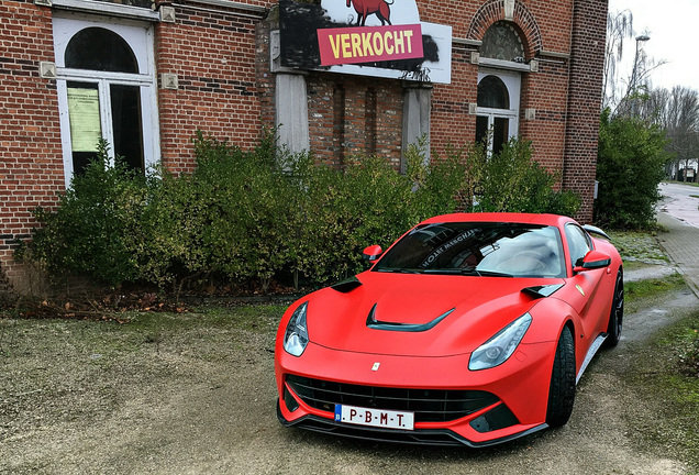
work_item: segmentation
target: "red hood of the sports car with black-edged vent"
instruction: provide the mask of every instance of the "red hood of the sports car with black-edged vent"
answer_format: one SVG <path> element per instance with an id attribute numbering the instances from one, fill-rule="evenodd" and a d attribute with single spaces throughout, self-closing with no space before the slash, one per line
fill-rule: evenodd
<path id="1" fill-rule="evenodd" d="M 551 284 L 563 279 L 367 272 L 358 281 L 308 297 L 309 338 L 314 344 L 359 353 L 469 353 L 542 297 L 524 288 Z"/>

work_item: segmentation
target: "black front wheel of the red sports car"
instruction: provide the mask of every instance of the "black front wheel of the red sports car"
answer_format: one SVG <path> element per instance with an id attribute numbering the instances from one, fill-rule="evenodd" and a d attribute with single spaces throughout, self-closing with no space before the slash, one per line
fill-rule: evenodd
<path id="1" fill-rule="evenodd" d="M 568 422 L 575 402 L 575 344 L 568 327 L 564 327 L 556 347 L 556 357 L 548 388 L 546 423 L 561 427 Z"/>

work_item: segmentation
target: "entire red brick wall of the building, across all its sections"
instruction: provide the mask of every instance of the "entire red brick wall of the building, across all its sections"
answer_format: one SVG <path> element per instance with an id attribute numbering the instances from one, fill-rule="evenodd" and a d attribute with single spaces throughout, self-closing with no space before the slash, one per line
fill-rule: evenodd
<path id="1" fill-rule="evenodd" d="M 248 0 L 270 8 L 273 2 Z M 431 141 L 470 143 L 478 66 L 470 63 L 487 27 L 503 19 L 501 0 L 418 0 L 421 20 L 453 26 L 452 84 L 435 85 Z M 262 13 L 184 0 L 176 23 L 157 23 L 156 70 L 174 73 L 177 90 L 158 88 L 163 163 L 193 168 L 191 139 L 198 129 L 244 147 L 275 121 L 275 74 L 269 70 L 274 9 Z M 591 219 L 607 0 L 518 0 L 514 19 L 526 56 L 539 73 L 522 74 L 520 133 L 535 159 L 561 172 L 563 187 L 585 197 L 578 218 Z M 54 62 L 52 9 L 31 0 L 0 3 L 0 273 L 12 279 L 16 239 L 36 224 L 31 210 L 54 206 L 65 189 L 55 80 L 38 77 L 40 62 Z M 550 53 L 556 53 L 554 55 Z M 355 154 L 376 153 L 398 167 L 403 89 L 398 80 L 323 73 L 307 76 L 311 151 L 319 162 L 342 166 Z M 1 277 L 1 276 L 0 276 Z M 0 278 L 1 280 L 1 278 Z"/>

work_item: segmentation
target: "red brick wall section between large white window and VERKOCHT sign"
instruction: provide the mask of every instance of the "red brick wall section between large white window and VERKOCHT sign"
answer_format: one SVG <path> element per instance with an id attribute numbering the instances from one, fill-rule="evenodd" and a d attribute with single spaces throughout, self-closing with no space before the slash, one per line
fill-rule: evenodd
<path id="1" fill-rule="evenodd" d="M 158 90 L 162 159 L 174 172 L 190 172 L 191 139 L 198 129 L 243 147 L 259 137 L 255 62 L 259 20 L 247 16 L 249 12 L 201 9 L 187 1 L 178 2 L 175 10 L 175 23 L 156 27 L 158 74 L 177 74 L 179 82 L 177 90 Z"/>

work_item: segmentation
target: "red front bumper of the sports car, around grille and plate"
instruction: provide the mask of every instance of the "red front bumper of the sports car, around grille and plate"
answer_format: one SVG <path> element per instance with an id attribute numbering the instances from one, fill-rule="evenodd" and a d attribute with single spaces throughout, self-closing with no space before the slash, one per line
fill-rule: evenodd
<path id="1" fill-rule="evenodd" d="M 286 427 L 359 439 L 469 446 L 506 442 L 547 427 L 546 406 L 554 354 L 550 343 L 521 344 L 502 365 L 478 372 L 468 371 L 469 354 L 406 357 L 342 352 L 313 343 L 301 357 L 291 356 L 282 349 L 277 351 L 277 415 Z M 289 384 L 289 375 L 292 375 L 293 384 Z M 321 394 L 328 404 L 319 404 L 318 398 L 312 399 L 308 391 L 299 390 L 298 380 L 306 378 L 328 382 L 331 386 L 368 387 L 381 391 L 482 391 L 492 399 L 455 418 L 421 419 L 418 409 L 414 430 L 410 431 L 352 426 L 335 422 L 334 404 L 357 404 L 345 401 L 346 395 L 335 396 L 336 400 L 333 400 L 324 390 Z M 378 397 L 367 401 L 364 407 L 412 409 L 410 400 L 408 407 L 384 407 Z M 362 404 L 357 406 L 362 407 Z M 503 413 L 504 418 L 501 417 Z"/>

